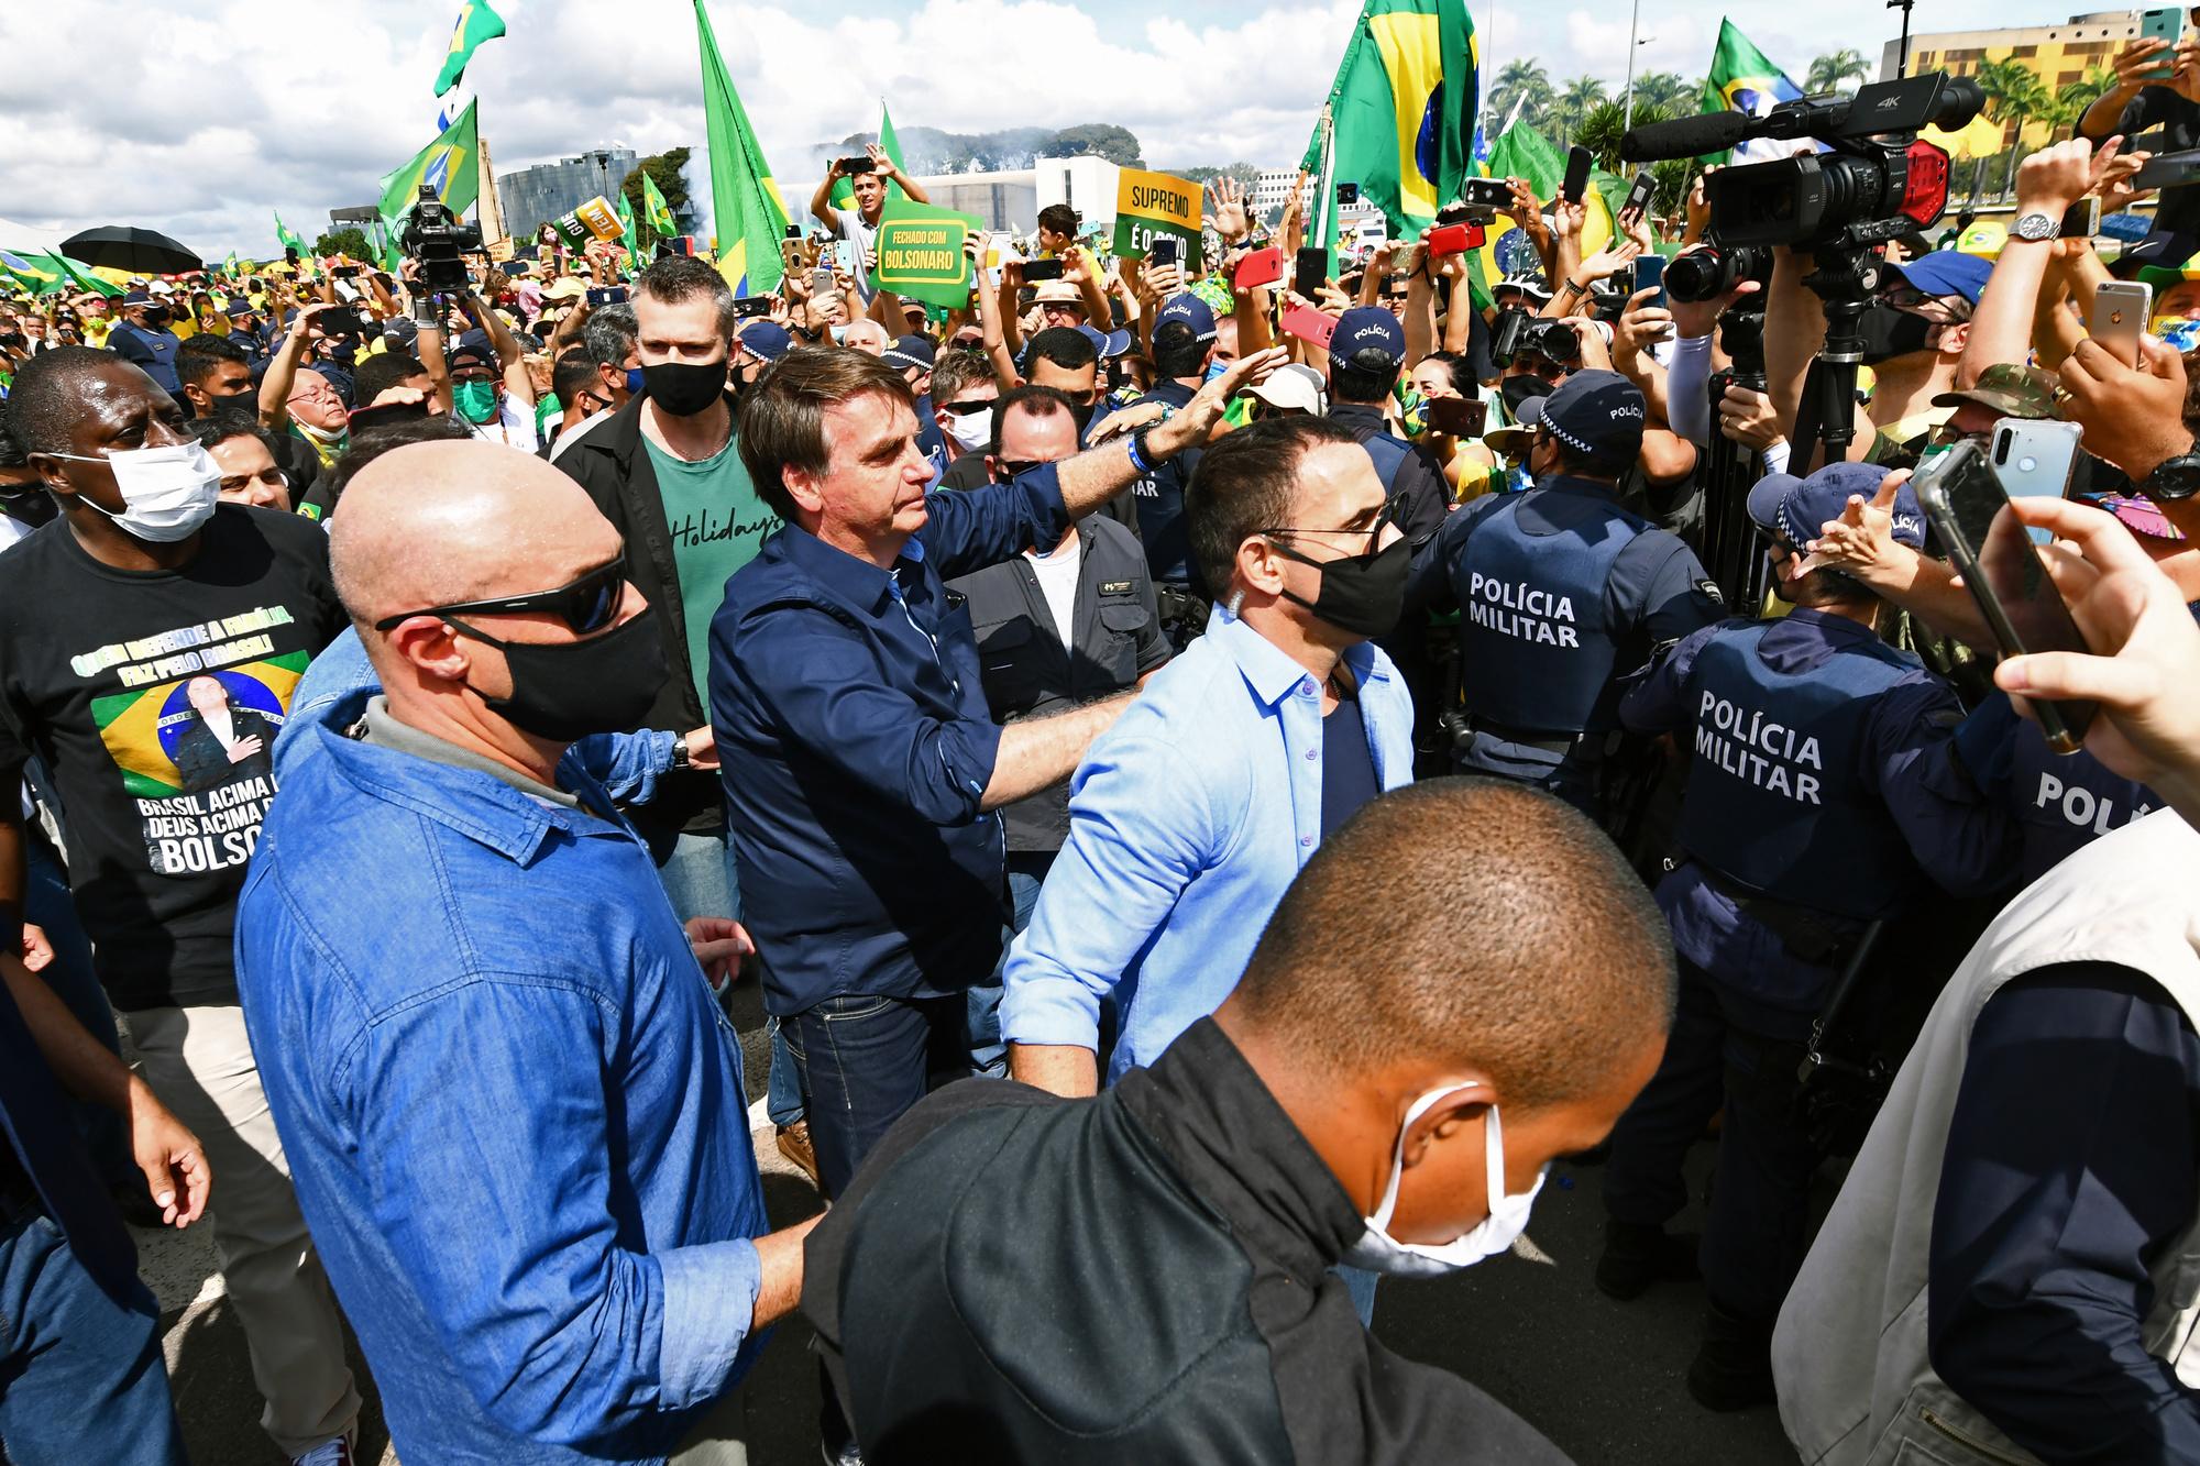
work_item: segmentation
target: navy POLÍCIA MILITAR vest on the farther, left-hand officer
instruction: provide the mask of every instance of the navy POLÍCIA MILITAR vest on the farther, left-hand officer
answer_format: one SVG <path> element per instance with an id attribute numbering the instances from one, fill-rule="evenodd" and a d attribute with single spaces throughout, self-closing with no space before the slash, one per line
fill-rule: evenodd
<path id="1" fill-rule="evenodd" d="M 1584 528 L 1529 535 L 1527 497 L 1489 511 L 1452 564 L 1467 711 L 1527 733 L 1608 733 L 1619 726 L 1619 645 L 1604 586 L 1648 524 L 1613 504 Z"/>

